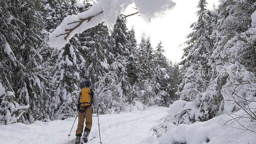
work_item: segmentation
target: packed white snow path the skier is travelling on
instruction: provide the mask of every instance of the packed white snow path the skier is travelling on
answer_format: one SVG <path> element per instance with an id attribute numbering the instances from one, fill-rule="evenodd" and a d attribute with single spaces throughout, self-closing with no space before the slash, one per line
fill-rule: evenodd
<path id="1" fill-rule="evenodd" d="M 101 142 L 105 144 L 140 143 L 148 137 L 149 129 L 158 124 L 158 120 L 167 115 L 168 108 L 151 107 L 145 111 L 132 111 L 121 114 L 100 115 Z M 96 115 L 93 115 L 96 116 Z M 26 125 L 21 123 L 0 126 L 0 143 L 73 143 L 78 119 L 71 131 L 75 118 L 51 122 L 35 121 Z M 153 134 L 151 132 L 150 134 Z M 88 143 L 99 143 L 98 118 L 92 117 L 92 131 Z"/>

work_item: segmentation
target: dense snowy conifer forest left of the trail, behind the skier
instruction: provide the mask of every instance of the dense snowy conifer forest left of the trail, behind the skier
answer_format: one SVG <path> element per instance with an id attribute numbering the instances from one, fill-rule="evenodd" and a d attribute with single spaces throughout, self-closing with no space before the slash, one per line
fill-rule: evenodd
<path id="1" fill-rule="evenodd" d="M 169 106 L 177 100 L 179 66 L 150 38 L 135 39 L 118 15 L 109 36 L 104 23 L 73 36 L 63 48 L 48 46 L 49 34 L 68 15 L 87 11 L 91 1 L 0 1 L 0 125 L 76 116 L 75 99 L 92 81 L 101 114 Z"/>

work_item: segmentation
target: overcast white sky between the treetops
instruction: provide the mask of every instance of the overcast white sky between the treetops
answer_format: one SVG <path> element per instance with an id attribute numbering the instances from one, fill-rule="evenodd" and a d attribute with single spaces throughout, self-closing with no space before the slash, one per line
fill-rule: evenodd
<path id="1" fill-rule="evenodd" d="M 149 24 L 140 16 L 127 17 L 127 28 L 130 30 L 134 26 L 138 43 L 143 31 L 146 37 L 150 36 L 153 48 L 155 49 L 159 41 L 163 42 L 164 55 L 172 62 L 180 62 L 184 46 L 179 46 L 186 41 L 186 36 L 191 32 L 190 25 L 197 21 L 196 8 L 199 0 L 173 0 L 176 6 L 163 18 L 153 19 Z M 207 8 L 212 10 L 213 4 L 218 6 L 219 0 L 207 0 Z M 125 14 L 136 12 L 130 6 Z"/>

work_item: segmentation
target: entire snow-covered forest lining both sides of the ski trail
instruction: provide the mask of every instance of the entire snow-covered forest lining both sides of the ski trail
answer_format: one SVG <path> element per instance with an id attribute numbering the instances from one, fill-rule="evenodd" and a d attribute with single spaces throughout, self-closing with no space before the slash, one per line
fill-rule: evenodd
<path id="1" fill-rule="evenodd" d="M 152 127 L 165 143 L 189 143 L 197 128 L 221 120 L 256 133 L 256 1 L 220 0 L 208 10 L 198 0 L 179 64 L 163 55 L 161 41 L 152 47 L 142 34 L 137 42 L 126 27 L 121 11 L 133 2 L 146 21 L 175 5 L 159 0 L 151 12 L 148 1 L 1 0 L 0 125 L 76 116 L 76 95 L 89 79 L 100 114 L 170 106 Z M 194 143 L 210 141 L 200 136 Z"/>

